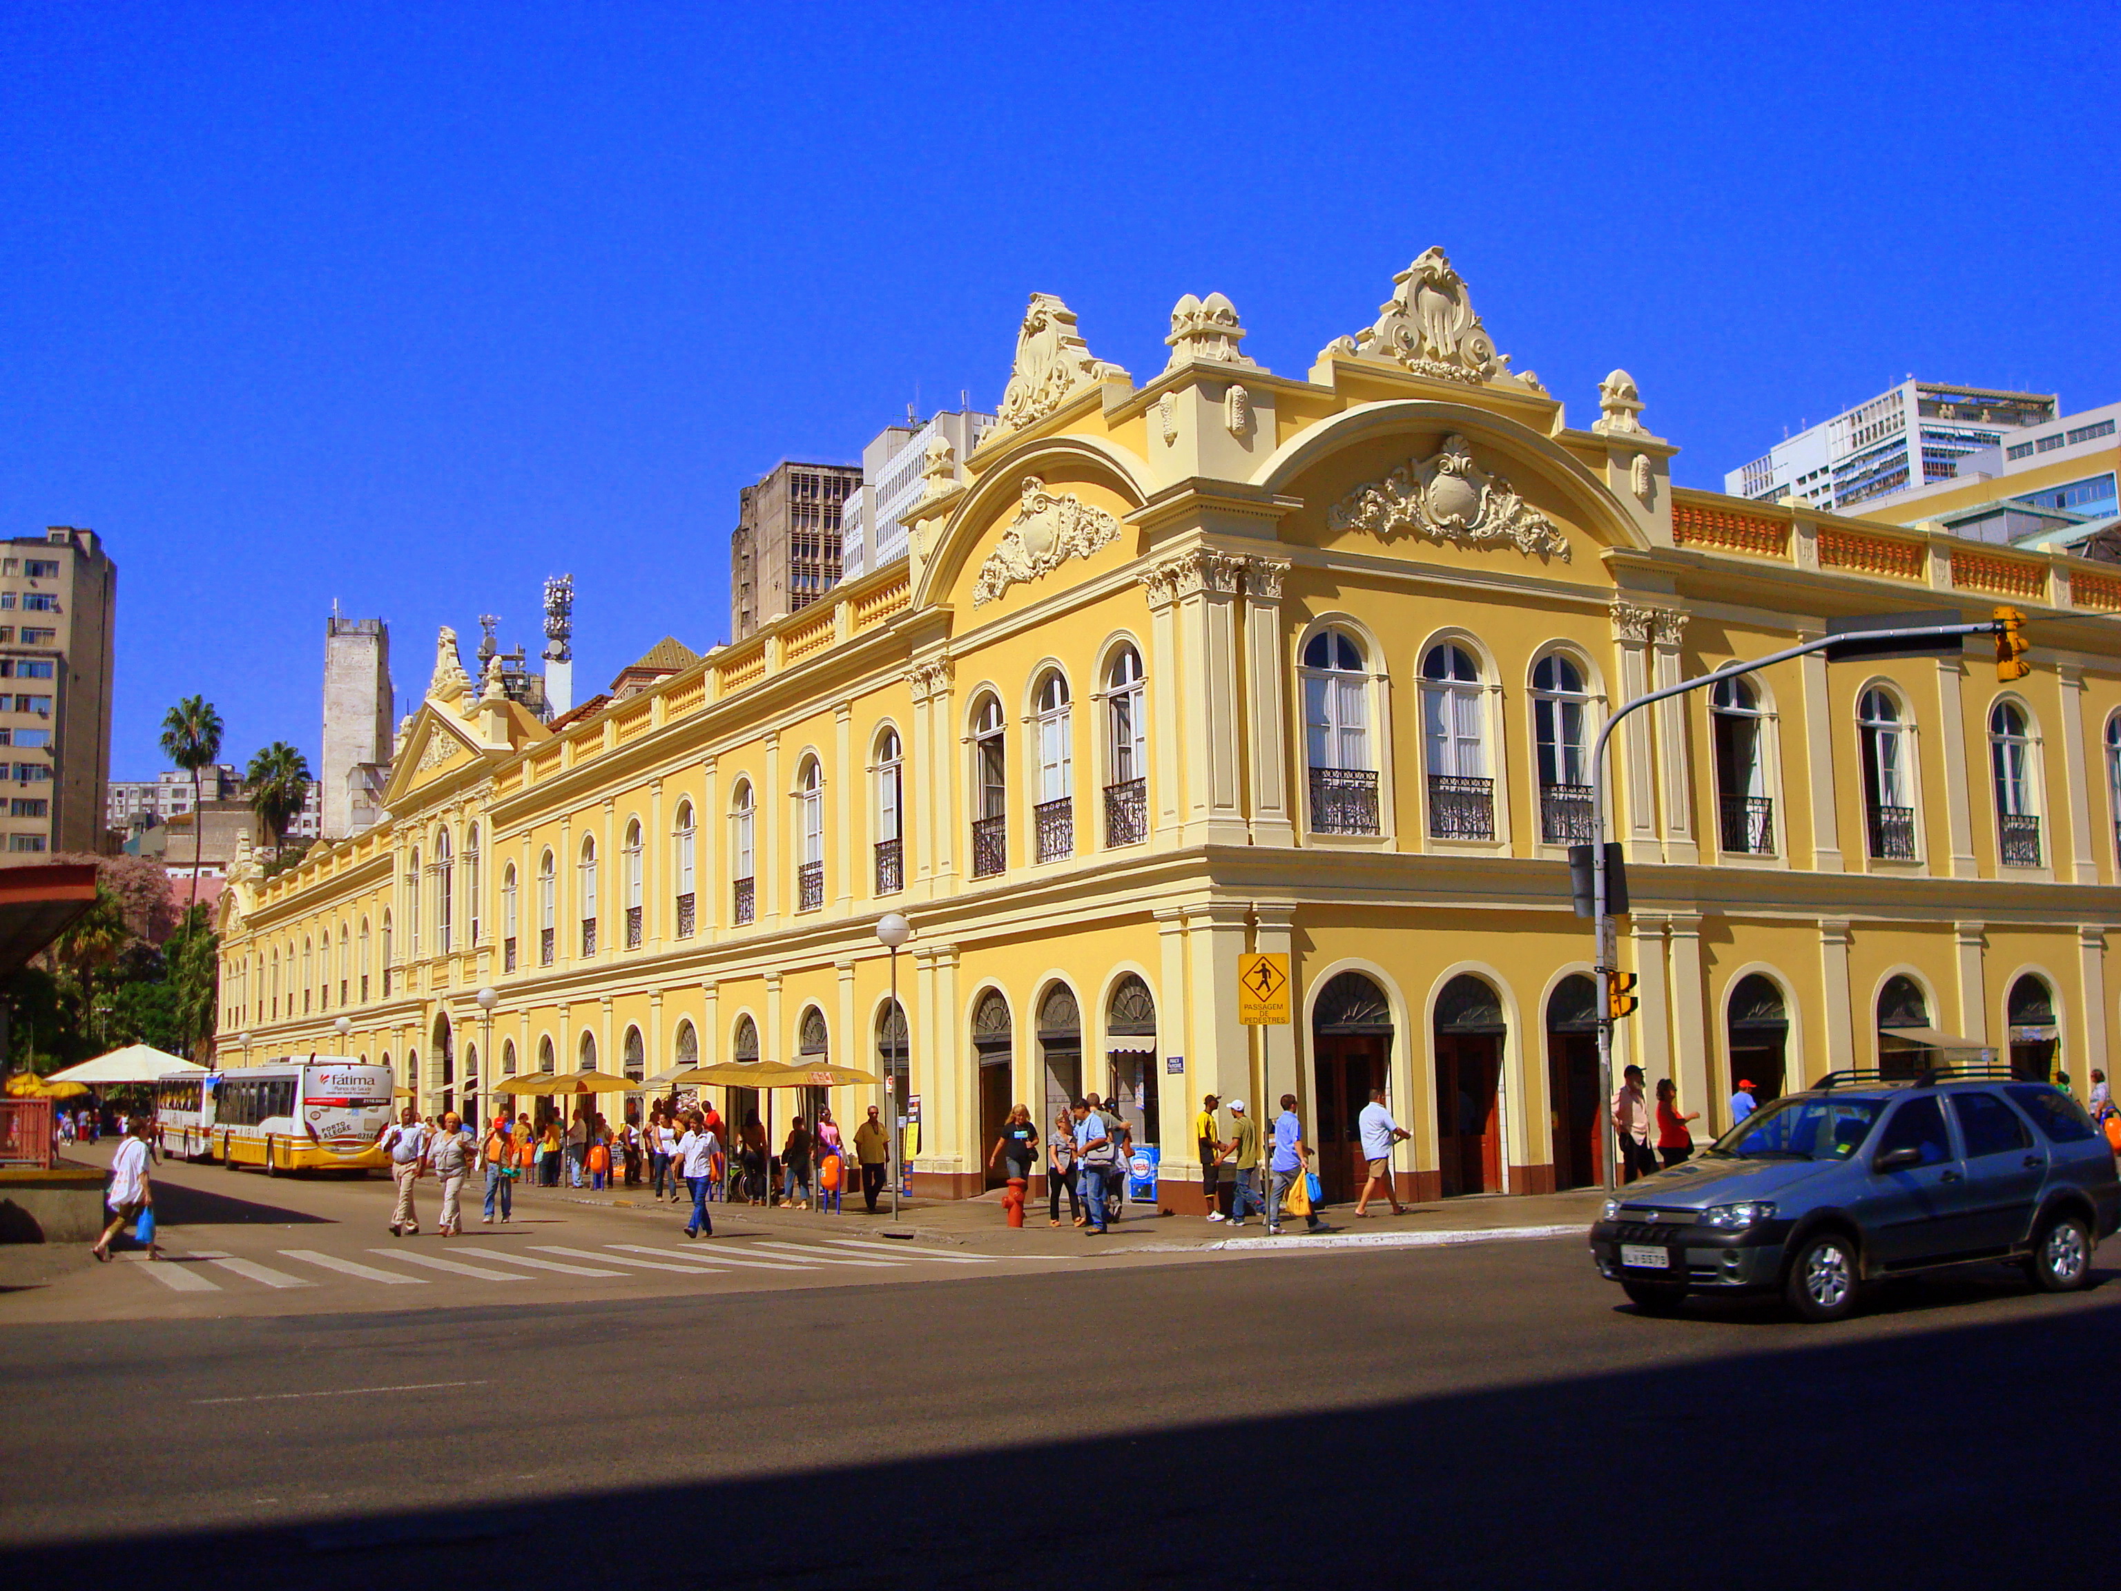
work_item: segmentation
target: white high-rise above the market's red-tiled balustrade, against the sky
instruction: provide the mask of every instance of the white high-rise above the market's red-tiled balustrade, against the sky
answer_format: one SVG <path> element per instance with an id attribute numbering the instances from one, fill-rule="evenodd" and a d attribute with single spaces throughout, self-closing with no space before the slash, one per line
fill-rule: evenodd
<path id="1" fill-rule="evenodd" d="M 1758 503 L 1786 494 L 1807 509 L 1873 513 L 1900 492 L 1947 482 L 1968 454 L 2055 418 L 2053 392 L 1917 382 L 1864 399 L 1833 420 L 1777 441 L 1724 475 L 1724 490 Z"/>

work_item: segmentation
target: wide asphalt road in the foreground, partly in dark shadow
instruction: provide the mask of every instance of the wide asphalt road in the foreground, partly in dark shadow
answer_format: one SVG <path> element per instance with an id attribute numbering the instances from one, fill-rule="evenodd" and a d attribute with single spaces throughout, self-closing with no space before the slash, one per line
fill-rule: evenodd
<path id="1" fill-rule="evenodd" d="M 1830 1328 L 1635 1315 L 1576 1241 L 0 1324 L 0 1572 L 2102 1583 L 2100 1258 Z"/>

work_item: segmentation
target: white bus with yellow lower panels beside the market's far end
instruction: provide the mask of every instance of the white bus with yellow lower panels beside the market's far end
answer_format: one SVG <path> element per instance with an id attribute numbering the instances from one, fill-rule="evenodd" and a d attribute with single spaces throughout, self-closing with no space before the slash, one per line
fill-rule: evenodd
<path id="1" fill-rule="evenodd" d="M 390 1067 L 286 1059 L 155 1084 L 163 1154 L 235 1169 L 367 1171 L 390 1122 Z"/>

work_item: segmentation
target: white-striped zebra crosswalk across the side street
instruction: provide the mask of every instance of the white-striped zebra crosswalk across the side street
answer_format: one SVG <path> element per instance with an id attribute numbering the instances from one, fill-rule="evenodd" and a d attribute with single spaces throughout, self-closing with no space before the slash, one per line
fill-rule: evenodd
<path id="1" fill-rule="evenodd" d="M 265 1258 L 274 1260 L 271 1264 Z M 1005 1260 L 980 1254 L 937 1254 L 914 1245 L 884 1245 L 840 1237 L 821 1243 L 761 1239 L 738 1247 L 672 1247 L 655 1243 L 530 1243 L 522 1249 L 501 1243 L 464 1243 L 454 1254 L 433 1254 L 409 1245 L 361 1249 L 358 1258 L 322 1249 L 274 1249 L 263 1258 L 244 1258 L 221 1249 L 168 1249 L 163 1262 L 142 1262 L 129 1269 L 155 1279 L 170 1292 L 244 1292 L 235 1283 L 267 1290 L 316 1288 L 320 1283 L 356 1281 L 375 1288 L 418 1288 L 445 1277 L 464 1281 L 537 1281 L 543 1277 L 581 1277 L 600 1281 L 647 1281 L 643 1273 L 660 1271 L 685 1277 L 744 1279 L 755 1271 L 781 1275 L 848 1277 L 859 1271 L 908 1271 L 927 1266 L 991 1266 Z M 316 1275 L 322 1273 L 322 1275 Z"/>

